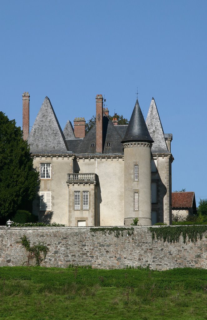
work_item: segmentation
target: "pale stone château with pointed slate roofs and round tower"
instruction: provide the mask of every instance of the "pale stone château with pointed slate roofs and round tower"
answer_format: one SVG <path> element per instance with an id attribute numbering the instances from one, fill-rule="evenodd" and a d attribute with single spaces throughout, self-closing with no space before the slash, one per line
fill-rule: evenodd
<path id="1" fill-rule="evenodd" d="M 146 123 L 137 100 L 128 126 L 109 120 L 102 95 L 96 107 L 96 125 L 80 139 L 70 121 L 61 130 L 45 98 L 28 136 L 41 178 L 33 213 L 72 227 L 130 225 L 136 217 L 142 226 L 170 224 L 172 135 L 163 133 L 154 99 Z"/>

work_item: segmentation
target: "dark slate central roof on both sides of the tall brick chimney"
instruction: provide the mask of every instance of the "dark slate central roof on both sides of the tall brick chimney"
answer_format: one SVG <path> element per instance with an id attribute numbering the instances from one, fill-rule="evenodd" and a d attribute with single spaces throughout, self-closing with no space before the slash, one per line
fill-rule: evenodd
<path id="1" fill-rule="evenodd" d="M 103 114 L 103 154 L 123 154 L 122 136 L 111 120 Z M 94 142 L 94 147 L 91 143 Z M 107 142 L 110 146 L 107 147 Z M 96 154 L 96 125 L 83 139 L 67 140 L 68 150 L 76 154 Z"/>

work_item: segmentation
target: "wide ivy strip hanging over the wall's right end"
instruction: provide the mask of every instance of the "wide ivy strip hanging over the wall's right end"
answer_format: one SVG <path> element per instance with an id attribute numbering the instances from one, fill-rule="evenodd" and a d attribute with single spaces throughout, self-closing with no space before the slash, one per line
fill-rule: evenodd
<path id="1" fill-rule="evenodd" d="M 207 226 L 177 226 L 177 227 L 160 227 L 153 228 L 150 227 L 149 230 L 152 233 L 152 240 L 155 240 L 155 236 L 157 240 L 163 239 L 163 241 L 167 242 L 179 242 L 179 237 L 183 236 L 183 241 L 186 243 L 186 238 L 188 236 L 188 241 L 196 242 L 199 237 L 200 240 L 203 238 L 204 232 L 207 231 Z"/>

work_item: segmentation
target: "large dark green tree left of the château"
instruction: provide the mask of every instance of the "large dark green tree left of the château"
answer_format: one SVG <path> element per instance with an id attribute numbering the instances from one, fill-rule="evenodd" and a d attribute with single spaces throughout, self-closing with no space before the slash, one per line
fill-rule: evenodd
<path id="1" fill-rule="evenodd" d="M 0 112 L 0 219 L 18 209 L 31 210 L 38 186 L 39 172 L 20 127 Z"/>

